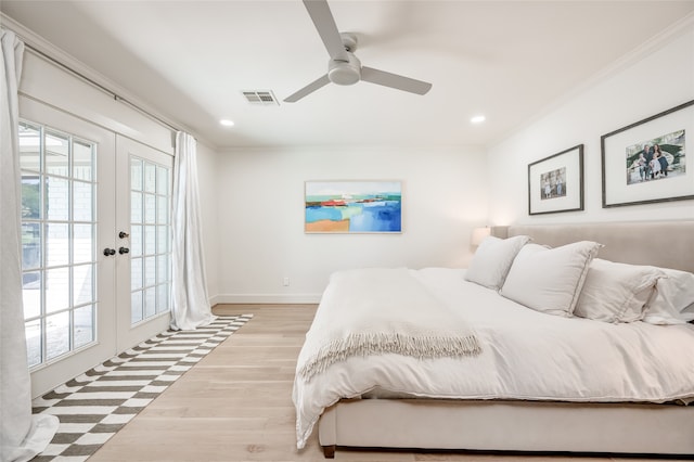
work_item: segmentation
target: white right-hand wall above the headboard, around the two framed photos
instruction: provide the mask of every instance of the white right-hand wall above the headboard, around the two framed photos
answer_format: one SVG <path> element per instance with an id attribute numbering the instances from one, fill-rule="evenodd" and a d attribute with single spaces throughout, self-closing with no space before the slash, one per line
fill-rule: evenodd
<path id="1" fill-rule="evenodd" d="M 626 62 L 626 60 L 625 60 Z M 693 219 L 694 201 L 602 208 L 600 138 L 694 99 L 694 26 L 488 150 L 490 223 Z M 687 175 L 694 176 L 694 133 Z M 639 140 L 641 141 L 641 140 Z M 528 164 L 584 144 L 584 210 L 529 216 Z"/>

